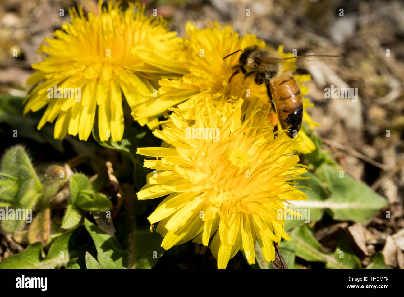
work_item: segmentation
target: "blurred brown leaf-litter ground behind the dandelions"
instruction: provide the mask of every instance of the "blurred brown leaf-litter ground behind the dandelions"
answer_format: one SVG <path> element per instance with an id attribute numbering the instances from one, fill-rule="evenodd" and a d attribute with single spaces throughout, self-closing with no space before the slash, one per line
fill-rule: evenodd
<path id="1" fill-rule="evenodd" d="M 368 226 L 378 244 L 404 227 L 404 4 L 382 0 L 159 0 L 143 1 L 146 14 L 154 8 L 168 21 L 168 27 L 183 36 L 185 23 L 197 27 L 218 21 L 234 27 L 240 35 L 256 34 L 285 52 L 298 55 L 341 55 L 318 61 L 307 82 L 314 108 L 308 113 L 320 124 L 315 133 L 323 147 L 357 181 L 363 181 L 385 196 L 394 207 L 394 219 L 377 218 Z M 126 1 L 122 2 L 126 5 Z M 69 21 L 68 8 L 82 5 L 90 11 L 95 0 L 2 0 L 0 4 L 0 96 L 27 94 L 26 79 L 38 61 L 36 49 L 62 22 Z M 64 17 L 59 10 L 64 9 Z M 250 17 L 246 17 L 246 10 Z M 341 15 L 341 9 L 343 10 Z M 17 49 L 18 57 L 13 57 Z M 357 88 L 358 101 L 326 99 L 324 88 Z M 0 102 L 1 105 L 1 102 Z M 10 123 L 2 121 L 0 135 L 11 135 Z M 2 115 L 3 113 L 3 115 Z M 52 125 L 50 129 L 53 130 Z M 32 131 L 35 129 L 33 128 Z M 387 132 L 389 131 L 389 132 Z M 34 133 L 34 132 L 32 132 Z M 51 133 L 52 134 L 52 133 Z M 389 136 L 389 137 L 387 137 Z M 72 140 L 72 137 L 67 137 Z M 38 141 L 37 141 L 38 142 Z M 46 141 L 43 141 L 46 142 Z M 76 142 L 78 142 L 76 140 Z M 2 141 L 0 154 L 14 143 Z M 47 147 L 37 156 L 45 154 Z M 59 156 L 61 157 L 61 156 Z M 38 157 L 39 158 L 39 157 Z M 67 156 L 61 157 L 67 158 Z M 370 231 L 369 231 L 370 230 Z M 404 235 L 403 235 L 404 236 Z M 404 238 L 404 237 L 403 237 Z M 384 240 L 384 241 L 383 241 Z M 181 249 L 187 249 L 182 247 Z M 391 252 L 386 264 L 404 269 L 404 254 Z M 173 256 L 174 257 L 174 256 Z M 401 258 L 400 258 L 401 257 Z M 400 260 L 401 259 L 401 260 Z M 194 259 L 195 261 L 198 261 Z M 233 268 L 241 268 L 237 259 Z M 190 261 L 191 262 L 191 261 Z M 168 265 L 158 262 L 158 265 Z M 182 263 L 181 265 L 188 265 Z M 191 265 L 191 264 L 189 264 Z M 239 265 L 240 267 L 238 267 Z M 244 264 L 243 264 L 244 265 Z M 403 267 L 402 267 L 403 266 Z"/>

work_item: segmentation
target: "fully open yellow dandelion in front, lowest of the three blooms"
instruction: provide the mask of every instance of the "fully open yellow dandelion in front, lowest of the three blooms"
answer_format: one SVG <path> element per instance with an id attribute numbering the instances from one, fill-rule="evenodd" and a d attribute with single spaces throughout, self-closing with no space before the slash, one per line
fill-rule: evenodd
<path id="1" fill-rule="evenodd" d="M 238 251 L 255 263 L 258 240 L 265 260 L 273 261 L 274 242 L 290 240 L 277 212 L 286 200 L 307 199 L 293 185 L 306 169 L 296 167 L 293 140 L 274 139 L 270 122 L 241 120 L 242 101 L 204 104 L 207 113 L 196 107 L 185 119 L 176 111 L 154 131 L 165 147 L 138 148 L 138 154 L 156 158 L 144 162 L 154 172 L 138 199 L 168 195 L 148 217 L 150 223 L 160 221 L 164 249 L 188 240 L 210 245 L 224 269 Z"/>

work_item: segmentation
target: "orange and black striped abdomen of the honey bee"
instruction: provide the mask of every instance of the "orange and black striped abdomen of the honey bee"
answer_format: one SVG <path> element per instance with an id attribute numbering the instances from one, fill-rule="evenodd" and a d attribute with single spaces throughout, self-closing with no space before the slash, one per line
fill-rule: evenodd
<path id="1" fill-rule="evenodd" d="M 295 78 L 284 75 L 270 81 L 272 99 L 282 129 L 290 129 L 286 134 L 293 137 L 299 132 L 303 119 L 303 99 Z M 296 136 L 297 134 L 295 134 Z"/>

